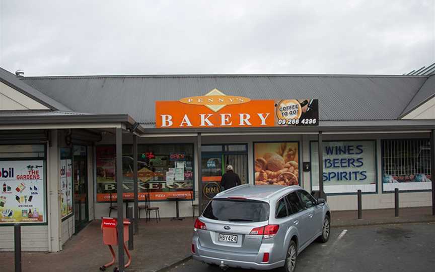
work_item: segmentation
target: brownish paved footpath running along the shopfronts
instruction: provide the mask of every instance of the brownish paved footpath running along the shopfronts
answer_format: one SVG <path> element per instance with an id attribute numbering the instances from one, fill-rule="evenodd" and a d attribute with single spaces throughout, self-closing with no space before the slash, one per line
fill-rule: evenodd
<path id="1" fill-rule="evenodd" d="M 431 207 L 401 208 L 399 217 L 394 217 L 394 209 L 363 210 L 363 219 L 358 220 L 356 211 L 333 211 L 331 219 L 333 227 L 435 222 L 431 213 Z M 102 242 L 100 223 L 100 220 L 92 221 L 73 236 L 61 252 L 23 252 L 23 271 L 99 271 L 111 258 L 108 247 Z M 166 270 L 190 257 L 193 224 L 191 217 L 183 221 L 162 219 L 159 223 L 140 220 L 139 233 L 134 236 L 135 249 L 131 251 L 132 263 L 126 271 Z M 1 252 L 0 263 L 2 272 L 13 272 L 14 253 Z"/>

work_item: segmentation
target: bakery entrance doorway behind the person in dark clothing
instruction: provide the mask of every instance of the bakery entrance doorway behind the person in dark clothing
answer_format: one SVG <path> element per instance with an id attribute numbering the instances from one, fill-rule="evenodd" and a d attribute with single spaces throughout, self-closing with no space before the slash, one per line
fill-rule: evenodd
<path id="1" fill-rule="evenodd" d="M 242 184 L 248 183 L 248 145 L 202 145 L 202 203 L 208 201 L 221 191 L 221 179 L 228 165 L 239 175 Z"/>

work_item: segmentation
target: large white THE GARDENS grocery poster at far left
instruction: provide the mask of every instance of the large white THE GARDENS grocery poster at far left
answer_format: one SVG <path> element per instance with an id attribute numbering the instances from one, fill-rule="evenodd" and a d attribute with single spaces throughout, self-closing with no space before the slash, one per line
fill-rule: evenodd
<path id="1" fill-rule="evenodd" d="M 0 224 L 43 223 L 44 161 L 0 161 Z"/>

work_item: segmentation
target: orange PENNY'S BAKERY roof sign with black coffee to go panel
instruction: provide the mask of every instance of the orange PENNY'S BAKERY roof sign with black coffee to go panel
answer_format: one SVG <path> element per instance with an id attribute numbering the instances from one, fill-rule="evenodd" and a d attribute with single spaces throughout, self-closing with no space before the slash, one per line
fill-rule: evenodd
<path id="1" fill-rule="evenodd" d="M 317 99 L 251 100 L 213 89 L 203 96 L 156 101 L 158 128 L 318 125 Z"/>

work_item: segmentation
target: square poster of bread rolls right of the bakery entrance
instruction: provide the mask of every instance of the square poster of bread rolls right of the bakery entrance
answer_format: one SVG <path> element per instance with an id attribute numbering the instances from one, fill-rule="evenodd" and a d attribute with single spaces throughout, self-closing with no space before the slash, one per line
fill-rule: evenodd
<path id="1" fill-rule="evenodd" d="M 255 143 L 256 185 L 299 185 L 298 142 Z"/>

